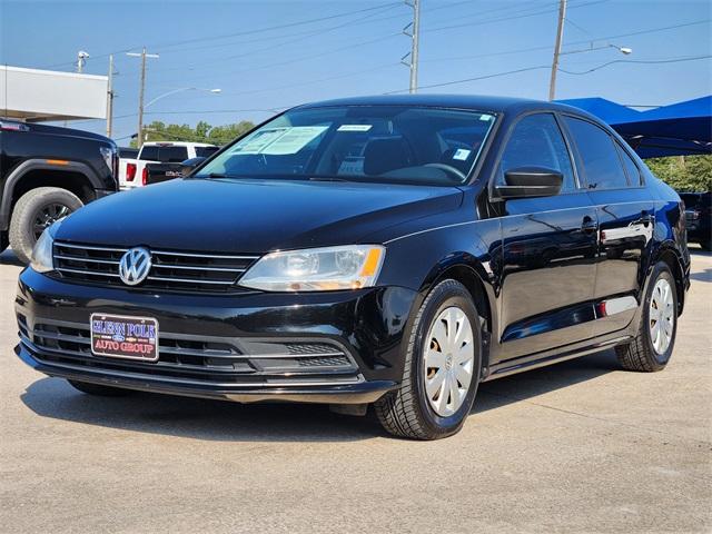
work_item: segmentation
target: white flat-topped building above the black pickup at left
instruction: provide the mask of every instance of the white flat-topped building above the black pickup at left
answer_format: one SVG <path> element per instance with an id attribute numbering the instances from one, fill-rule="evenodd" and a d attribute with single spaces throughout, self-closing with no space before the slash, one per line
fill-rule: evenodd
<path id="1" fill-rule="evenodd" d="M 108 77 L 0 66 L 0 117 L 106 119 Z"/>

